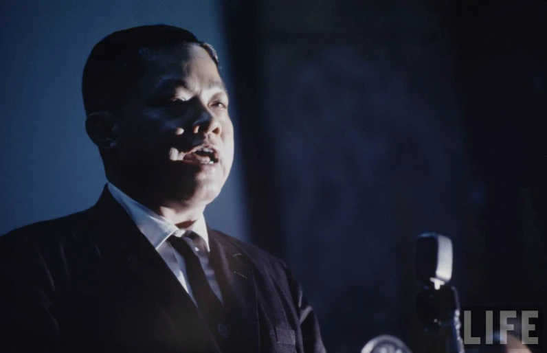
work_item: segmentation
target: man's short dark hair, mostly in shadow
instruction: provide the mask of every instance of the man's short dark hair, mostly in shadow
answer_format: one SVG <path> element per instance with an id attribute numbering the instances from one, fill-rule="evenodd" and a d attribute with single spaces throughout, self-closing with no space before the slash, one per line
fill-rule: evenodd
<path id="1" fill-rule="evenodd" d="M 203 47 L 219 67 L 214 48 L 198 41 L 192 32 L 170 25 L 145 25 L 109 34 L 91 50 L 82 76 L 82 96 L 87 115 L 97 111 L 118 113 L 144 72 L 155 49 L 195 44 Z"/>

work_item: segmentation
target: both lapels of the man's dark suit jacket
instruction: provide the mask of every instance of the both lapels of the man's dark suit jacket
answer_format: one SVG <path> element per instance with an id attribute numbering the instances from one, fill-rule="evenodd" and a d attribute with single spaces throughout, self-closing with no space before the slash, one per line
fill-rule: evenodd
<path id="1" fill-rule="evenodd" d="M 103 257 L 126 266 L 144 290 L 157 297 L 177 332 L 183 352 L 219 352 L 205 319 L 181 287 L 159 253 L 148 241 L 107 185 L 90 209 L 90 233 L 108 251 Z M 253 266 L 236 242 L 207 227 L 210 261 L 221 287 L 225 307 L 232 315 L 238 336 L 246 345 L 241 352 L 259 352 L 258 300 Z"/>

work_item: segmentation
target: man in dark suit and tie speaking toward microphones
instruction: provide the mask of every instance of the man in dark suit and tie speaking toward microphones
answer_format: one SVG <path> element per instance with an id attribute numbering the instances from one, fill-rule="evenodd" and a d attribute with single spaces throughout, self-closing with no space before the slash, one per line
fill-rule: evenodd
<path id="1" fill-rule="evenodd" d="M 167 25 L 115 32 L 82 94 L 108 183 L 0 237 L 0 351 L 324 352 L 287 266 L 203 219 L 234 155 L 214 49 Z"/>

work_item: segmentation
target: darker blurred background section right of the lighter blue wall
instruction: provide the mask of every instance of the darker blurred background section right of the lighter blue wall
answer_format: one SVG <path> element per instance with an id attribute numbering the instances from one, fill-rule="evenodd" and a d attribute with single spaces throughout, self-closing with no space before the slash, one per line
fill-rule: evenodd
<path id="1" fill-rule="evenodd" d="M 333 352 L 414 310 L 414 242 L 454 242 L 462 306 L 546 304 L 545 1 L 225 4 L 252 241 Z"/>

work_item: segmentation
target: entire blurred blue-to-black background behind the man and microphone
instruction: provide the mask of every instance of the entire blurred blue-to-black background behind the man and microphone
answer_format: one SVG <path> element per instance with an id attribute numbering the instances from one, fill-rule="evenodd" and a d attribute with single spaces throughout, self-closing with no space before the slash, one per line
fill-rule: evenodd
<path id="1" fill-rule="evenodd" d="M 545 1 L 3 2 L 1 231 L 104 183 L 80 76 L 103 36 L 186 27 L 230 87 L 236 164 L 214 227 L 284 259 L 330 352 L 415 352 L 414 242 L 454 242 L 463 306 L 545 306 Z"/>

